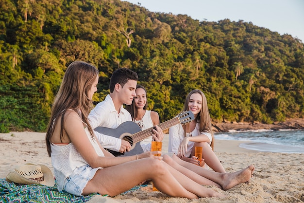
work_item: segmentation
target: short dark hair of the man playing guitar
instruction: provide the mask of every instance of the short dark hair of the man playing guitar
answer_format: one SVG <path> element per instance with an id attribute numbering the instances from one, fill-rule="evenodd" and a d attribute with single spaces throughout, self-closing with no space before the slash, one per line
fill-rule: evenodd
<path id="1" fill-rule="evenodd" d="M 113 72 L 110 79 L 110 92 L 114 91 L 115 85 L 118 83 L 123 87 L 128 80 L 138 80 L 138 75 L 127 68 L 119 68 Z"/>

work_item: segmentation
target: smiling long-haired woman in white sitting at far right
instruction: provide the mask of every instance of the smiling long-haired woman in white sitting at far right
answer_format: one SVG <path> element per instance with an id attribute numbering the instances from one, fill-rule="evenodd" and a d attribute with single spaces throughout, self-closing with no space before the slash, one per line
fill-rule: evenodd
<path id="1" fill-rule="evenodd" d="M 213 151 L 214 135 L 205 94 L 201 90 L 189 92 L 182 111 L 191 111 L 194 121 L 169 129 L 169 152 L 186 162 L 206 168 L 210 166 L 216 172 L 226 172 Z M 202 161 L 194 156 L 195 147 L 203 147 Z"/>

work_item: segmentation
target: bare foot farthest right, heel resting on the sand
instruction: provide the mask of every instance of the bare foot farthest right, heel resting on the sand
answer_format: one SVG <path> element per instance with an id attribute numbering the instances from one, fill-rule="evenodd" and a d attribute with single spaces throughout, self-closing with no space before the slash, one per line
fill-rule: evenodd
<path id="1" fill-rule="evenodd" d="M 236 171 L 234 173 L 223 174 L 224 183 L 222 185 L 223 190 L 228 190 L 240 183 L 246 183 L 250 181 L 253 175 L 254 166 L 250 165 L 247 168 Z"/>

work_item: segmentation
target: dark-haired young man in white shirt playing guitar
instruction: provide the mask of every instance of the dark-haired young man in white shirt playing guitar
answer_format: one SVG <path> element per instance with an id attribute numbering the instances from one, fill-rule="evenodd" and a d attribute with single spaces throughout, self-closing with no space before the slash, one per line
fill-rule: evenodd
<path id="1" fill-rule="evenodd" d="M 114 71 L 110 79 L 110 94 L 104 101 L 98 103 L 88 115 L 90 125 L 93 129 L 105 127 L 116 129 L 126 121 L 132 121 L 131 114 L 123 108 L 123 104 L 131 105 L 136 96 L 135 89 L 138 75 L 126 68 L 119 68 Z M 158 130 L 156 130 L 158 129 Z M 113 136 L 101 134 L 95 130 L 95 134 L 101 146 L 113 151 L 124 153 L 131 149 L 128 141 Z M 155 141 L 162 142 L 163 131 L 156 127 L 153 129 Z"/>

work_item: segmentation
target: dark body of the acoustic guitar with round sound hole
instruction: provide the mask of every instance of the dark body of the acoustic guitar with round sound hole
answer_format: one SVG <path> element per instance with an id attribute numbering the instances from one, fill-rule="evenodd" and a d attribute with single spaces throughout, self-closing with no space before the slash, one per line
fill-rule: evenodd
<path id="1" fill-rule="evenodd" d="M 135 134 L 136 132 L 140 132 L 141 129 L 139 126 L 133 122 L 133 121 L 126 121 L 120 124 L 116 129 L 111 128 L 105 128 L 105 127 L 97 127 L 95 128 L 95 131 L 100 132 L 105 135 L 110 135 L 112 137 L 116 137 L 122 140 L 126 140 L 131 144 L 131 150 L 126 151 L 125 153 L 120 153 L 117 151 L 109 150 L 114 156 L 132 156 L 135 154 L 141 154 L 143 153 L 143 149 L 140 146 L 140 143 L 136 145 L 136 143 L 133 142 L 132 134 Z"/>

